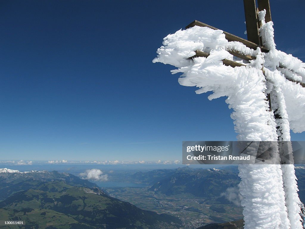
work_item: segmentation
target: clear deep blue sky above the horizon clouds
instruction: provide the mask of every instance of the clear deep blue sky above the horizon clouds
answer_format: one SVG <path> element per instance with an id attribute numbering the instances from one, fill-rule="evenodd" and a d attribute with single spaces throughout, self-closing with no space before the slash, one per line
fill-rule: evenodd
<path id="1" fill-rule="evenodd" d="M 304 61 L 305 2 L 270 2 L 277 48 Z M 246 38 L 242 1 L 1 1 L 1 160 L 181 160 L 184 140 L 236 140 L 224 98 L 152 63 L 193 20 Z"/>

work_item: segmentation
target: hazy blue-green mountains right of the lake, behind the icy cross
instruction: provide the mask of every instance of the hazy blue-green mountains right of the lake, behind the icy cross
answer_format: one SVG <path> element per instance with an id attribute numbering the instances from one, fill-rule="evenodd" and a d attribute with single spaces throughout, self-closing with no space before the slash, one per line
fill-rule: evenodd
<path id="1" fill-rule="evenodd" d="M 305 202 L 305 166 L 296 166 L 299 197 Z M 149 191 L 166 195 L 192 194 L 194 196 L 215 198 L 225 204 L 225 198 L 220 195 L 232 187 L 237 188 L 240 182 L 238 167 L 231 165 L 218 169 L 193 169 L 182 167 L 178 169 L 156 169 L 146 173 L 137 172 L 131 176 L 133 182 L 149 184 Z"/>

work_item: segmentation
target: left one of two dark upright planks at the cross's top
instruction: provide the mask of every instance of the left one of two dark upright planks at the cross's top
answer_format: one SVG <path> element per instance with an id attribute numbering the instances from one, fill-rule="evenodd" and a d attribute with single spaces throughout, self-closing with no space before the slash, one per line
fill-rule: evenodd
<path id="1" fill-rule="evenodd" d="M 246 27 L 248 41 L 260 45 L 258 31 L 257 9 L 255 0 L 244 0 Z"/>

